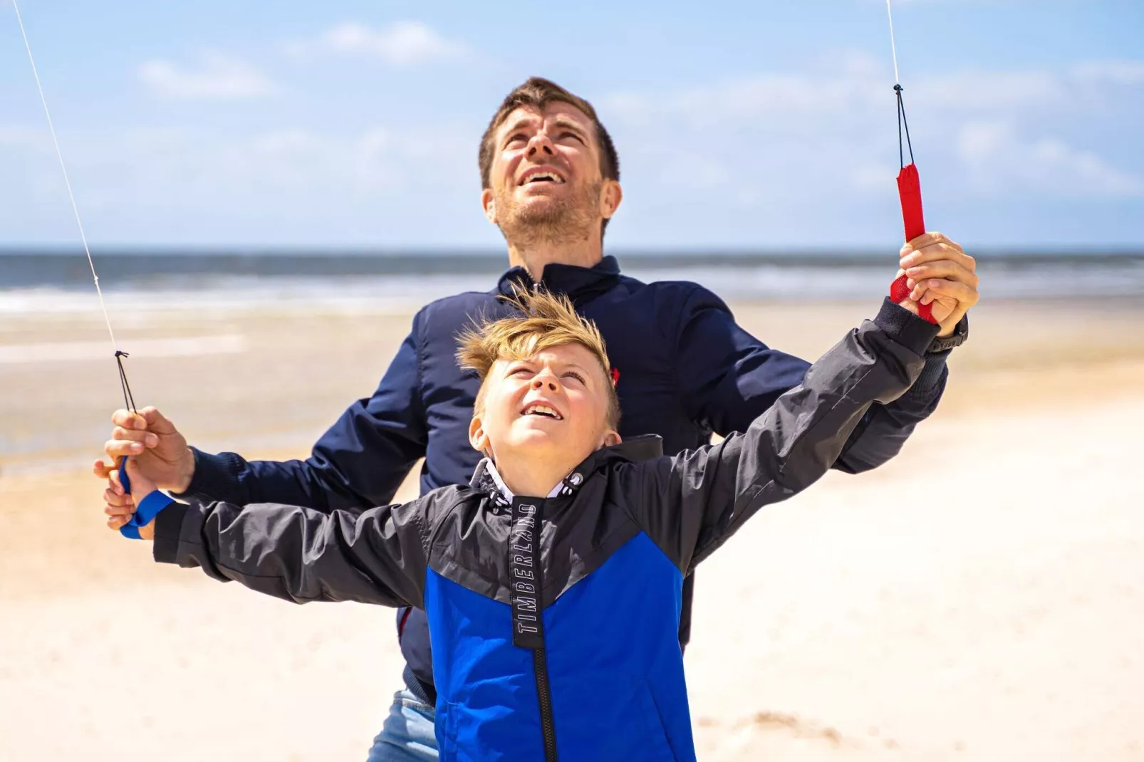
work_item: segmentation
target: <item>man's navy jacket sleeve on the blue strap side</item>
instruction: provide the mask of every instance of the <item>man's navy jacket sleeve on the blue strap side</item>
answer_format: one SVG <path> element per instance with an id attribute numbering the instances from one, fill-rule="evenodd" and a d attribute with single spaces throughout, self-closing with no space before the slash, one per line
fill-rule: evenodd
<path id="1" fill-rule="evenodd" d="M 421 313 L 378 390 L 353 403 L 307 460 L 247 461 L 236 453 L 194 451 L 194 476 L 177 498 L 239 506 L 278 502 L 332 510 L 365 510 L 389 502 L 424 455 L 427 427 L 419 362 Z"/>

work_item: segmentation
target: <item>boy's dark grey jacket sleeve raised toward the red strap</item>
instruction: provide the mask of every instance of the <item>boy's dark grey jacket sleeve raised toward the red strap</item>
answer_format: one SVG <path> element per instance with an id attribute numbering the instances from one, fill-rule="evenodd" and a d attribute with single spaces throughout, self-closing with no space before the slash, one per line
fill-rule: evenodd
<path id="1" fill-rule="evenodd" d="M 818 481 L 866 410 L 909 388 L 937 332 L 887 302 L 745 432 L 675 458 L 625 465 L 620 483 L 636 522 L 690 572 L 760 508 Z"/>

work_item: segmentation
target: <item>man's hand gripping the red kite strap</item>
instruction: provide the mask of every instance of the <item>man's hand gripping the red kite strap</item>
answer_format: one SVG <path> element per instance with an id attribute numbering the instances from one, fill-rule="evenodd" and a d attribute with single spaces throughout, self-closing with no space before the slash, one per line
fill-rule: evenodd
<path id="1" fill-rule="evenodd" d="M 939 232 L 928 232 L 901 247 L 901 270 L 909 297 L 901 302 L 914 315 L 917 304 L 932 304 L 934 319 L 948 336 L 969 308 L 977 303 L 977 262 L 960 244 Z"/>

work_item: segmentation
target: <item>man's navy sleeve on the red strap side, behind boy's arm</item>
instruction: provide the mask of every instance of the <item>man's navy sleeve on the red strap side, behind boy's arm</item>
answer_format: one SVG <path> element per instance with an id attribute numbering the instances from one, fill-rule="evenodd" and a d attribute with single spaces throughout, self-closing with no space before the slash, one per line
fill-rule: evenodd
<path id="1" fill-rule="evenodd" d="M 745 430 L 810 367 L 740 328 L 723 300 L 701 286 L 686 296 L 676 335 L 676 368 L 688 414 L 721 435 Z M 887 405 L 872 405 L 833 468 L 855 474 L 898 454 L 914 427 L 937 408 L 947 355 L 927 355 L 909 391 Z"/>

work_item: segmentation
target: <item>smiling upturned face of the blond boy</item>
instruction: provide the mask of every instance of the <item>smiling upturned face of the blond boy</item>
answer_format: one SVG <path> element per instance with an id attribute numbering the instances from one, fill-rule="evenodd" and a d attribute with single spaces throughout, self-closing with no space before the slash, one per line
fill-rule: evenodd
<path id="1" fill-rule="evenodd" d="M 511 458 L 571 469 L 620 442 L 606 423 L 610 384 L 596 356 L 580 344 L 550 347 L 524 360 L 496 360 L 469 440 L 494 462 Z"/>

